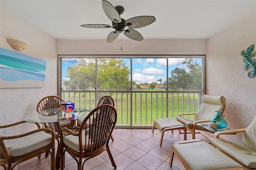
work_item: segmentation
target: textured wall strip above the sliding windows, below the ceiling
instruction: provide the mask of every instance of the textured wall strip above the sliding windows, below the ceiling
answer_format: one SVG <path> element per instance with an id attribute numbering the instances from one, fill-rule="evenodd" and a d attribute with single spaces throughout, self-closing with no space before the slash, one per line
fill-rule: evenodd
<path id="1" fill-rule="evenodd" d="M 206 54 L 206 40 L 57 40 L 57 54 Z"/>

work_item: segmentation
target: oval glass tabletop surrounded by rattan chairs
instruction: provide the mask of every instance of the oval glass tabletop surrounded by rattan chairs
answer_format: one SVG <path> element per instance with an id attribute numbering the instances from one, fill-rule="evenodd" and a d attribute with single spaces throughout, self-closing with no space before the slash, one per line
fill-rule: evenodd
<path id="1" fill-rule="evenodd" d="M 72 112 L 65 113 L 60 108 L 42 110 L 29 114 L 23 118 L 26 122 L 31 123 L 55 123 L 77 120 L 85 118 L 90 110 L 83 108 L 74 108 Z"/>

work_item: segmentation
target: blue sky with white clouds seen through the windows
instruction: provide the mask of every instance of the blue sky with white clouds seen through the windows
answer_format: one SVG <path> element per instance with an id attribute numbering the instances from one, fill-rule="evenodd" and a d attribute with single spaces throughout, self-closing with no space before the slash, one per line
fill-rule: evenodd
<path id="1" fill-rule="evenodd" d="M 186 68 L 181 63 L 185 58 L 168 58 L 168 72 L 178 68 Z M 62 80 L 68 80 L 66 70 L 69 66 L 77 64 L 78 58 L 62 58 Z M 131 70 L 130 58 L 122 58 L 126 62 L 126 66 Z M 132 58 L 132 81 L 136 84 L 157 82 L 160 78 L 162 83 L 166 81 L 167 76 L 167 59 L 166 58 Z M 202 63 L 202 59 L 196 59 Z M 158 81 L 158 83 L 160 83 Z"/>

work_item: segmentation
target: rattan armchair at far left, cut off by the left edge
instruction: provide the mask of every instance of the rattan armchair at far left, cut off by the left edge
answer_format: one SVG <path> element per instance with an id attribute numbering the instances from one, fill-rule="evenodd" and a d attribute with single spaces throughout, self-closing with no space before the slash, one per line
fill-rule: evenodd
<path id="1" fill-rule="evenodd" d="M 26 122 L 0 126 L 0 129 L 20 128 L 23 123 Z M 0 166 L 4 170 L 14 170 L 18 164 L 36 156 L 40 159 L 42 153 L 51 155 L 51 170 L 55 170 L 54 132 L 50 128 L 40 128 L 38 123 L 35 124 L 38 128 L 36 130 L 14 136 L 0 136 Z"/>

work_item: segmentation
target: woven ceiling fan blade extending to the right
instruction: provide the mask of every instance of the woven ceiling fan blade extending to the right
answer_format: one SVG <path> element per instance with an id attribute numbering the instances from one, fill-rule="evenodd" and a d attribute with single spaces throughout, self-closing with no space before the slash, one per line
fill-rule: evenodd
<path id="1" fill-rule="evenodd" d="M 126 25 L 129 28 L 141 28 L 149 24 L 152 24 L 155 21 L 156 18 L 154 16 L 136 16 L 126 20 Z"/>

